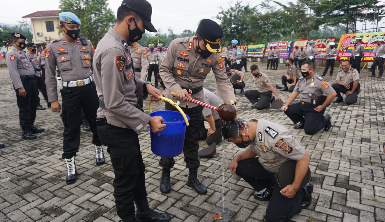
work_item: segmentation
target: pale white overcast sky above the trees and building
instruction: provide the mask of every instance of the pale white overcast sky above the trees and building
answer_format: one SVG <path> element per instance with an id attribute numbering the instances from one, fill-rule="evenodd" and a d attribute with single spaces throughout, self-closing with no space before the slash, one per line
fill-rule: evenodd
<path id="1" fill-rule="evenodd" d="M 230 0 L 194 0 L 192 2 L 181 2 L 176 0 L 147 0 L 152 5 L 152 24 L 156 29 L 162 29 L 162 33 L 167 33 L 167 28 L 174 29 L 175 34 L 183 32 L 185 29 L 196 31 L 198 22 L 203 18 L 215 17 L 220 12 L 219 7 L 229 8 Z M 293 0 L 294 2 L 295 0 Z M 116 15 L 117 8 L 122 0 L 108 0 L 109 7 Z M 234 0 L 233 2 L 236 2 Z M 243 4 L 250 3 L 255 6 L 260 1 L 244 0 Z M 285 0 L 278 0 L 285 3 Z M 13 7 L 17 7 L 13 9 Z M 22 16 L 40 10 L 59 9 L 59 0 L 18 0 L 17 4 L 11 0 L 1 0 L 0 22 L 16 25 L 17 21 L 22 20 Z M 28 19 L 29 20 L 29 19 Z"/>

